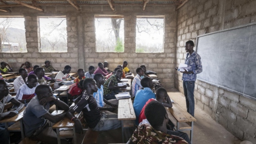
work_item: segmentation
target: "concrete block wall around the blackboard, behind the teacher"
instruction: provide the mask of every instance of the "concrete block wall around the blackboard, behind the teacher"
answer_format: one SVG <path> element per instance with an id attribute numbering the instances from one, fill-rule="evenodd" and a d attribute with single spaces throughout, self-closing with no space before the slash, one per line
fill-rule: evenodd
<path id="1" fill-rule="evenodd" d="M 250 0 L 188 1 L 178 10 L 176 66 L 185 63 L 187 40 L 196 43 L 199 35 L 255 22 L 255 6 L 256 1 Z M 175 74 L 175 87 L 184 93 L 180 72 Z M 255 100 L 199 80 L 196 81 L 194 98 L 196 105 L 232 134 L 256 143 Z"/>

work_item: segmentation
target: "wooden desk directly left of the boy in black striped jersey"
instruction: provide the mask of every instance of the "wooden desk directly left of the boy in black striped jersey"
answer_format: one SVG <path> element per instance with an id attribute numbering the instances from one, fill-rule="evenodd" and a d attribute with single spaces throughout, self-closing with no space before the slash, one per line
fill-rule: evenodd
<path id="1" fill-rule="evenodd" d="M 60 114 L 63 111 L 53 111 L 52 114 Z M 78 118 L 81 113 L 75 113 L 75 116 Z M 70 119 L 64 117 L 62 120 L 55 123 L 52 128 L 56 129 L 58 144 L 60 144 L 60 138 L 74 138 L 74 143 L 77 143 L 76 128 L 74 127 L 75 123 Z M 59 131 L 60 128 L 70 128 L 69 130 Z M 72 129 L 71 129 L 72 128 Z"/>

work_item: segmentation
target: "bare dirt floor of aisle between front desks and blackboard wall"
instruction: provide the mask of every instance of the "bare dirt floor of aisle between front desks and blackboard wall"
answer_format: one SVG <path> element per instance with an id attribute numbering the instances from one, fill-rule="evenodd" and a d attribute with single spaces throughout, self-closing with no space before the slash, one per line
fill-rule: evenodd
<path id="1" fill-rule="evenodd" d="M 186 101 L 182 93 L 174 89 L 172 92 L 168 92 L 168 94 L 181 108 L 186 109 Z M 197 121 L 194 122 L 193 144 L 239 144 L 241 142 L 241 140 L 214 121 L 210 115 L 206 114 L 197 105 L 195 105 L 194 113 Z M 187 134 L 189 135 L 189 132 Z"/>

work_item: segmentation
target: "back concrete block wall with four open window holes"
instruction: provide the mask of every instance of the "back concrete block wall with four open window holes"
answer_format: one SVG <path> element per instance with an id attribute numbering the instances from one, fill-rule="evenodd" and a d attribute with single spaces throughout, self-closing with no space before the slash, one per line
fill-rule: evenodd
<path id="1" fill-rule="evenodd" d="M 88 70 L 90 65 L 98 67 L 99 62 L 107 60 L 110 70 L 123 61 L 128 61 L 131 72 L 136 74 L 136 68 L 146 65 L 147 70 L 156 71 L 158 78 L 167 90 L 174 88 L 174 67 L 176 53 L 177 11 L 175 6 L 143 6 L 116 5 L 115 11 L 109 5 L 80 6 L 76 11 L 72 6 L 42 6 L 44 12 L 22 7 L 12 7 L 11 13 L 0 12 L 1 16 L 24 16 L 27 53 L 0 53 L 0 61 L 8 61 L 14 70 L 18 70 L 24 61 L 33 65 L 44 65 L 50 60 L 56 70 L 63 70 L 65 65 L 71 65 L 72 72 L 78 68 Z M 95 15 L 124 15 L 124 46 L 123 53 L 96 52 Z M 165 16 L 164 53 L 136 53 L 136 16 Z M 66 16 L 68 34 L 68 52 L 40 52 L 38 16 Z"/>

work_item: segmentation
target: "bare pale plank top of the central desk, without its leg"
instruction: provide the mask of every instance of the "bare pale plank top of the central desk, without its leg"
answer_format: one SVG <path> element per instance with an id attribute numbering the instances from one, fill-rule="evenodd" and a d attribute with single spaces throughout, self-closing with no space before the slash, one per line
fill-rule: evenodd
<path id="1" fill-rule="evenodd" d="M 118 120 L 136 120 L 131 98 L 118 100 Z"/>

